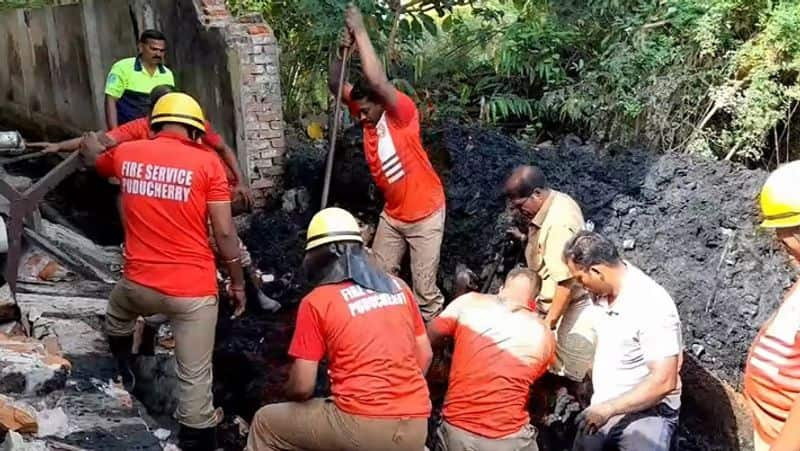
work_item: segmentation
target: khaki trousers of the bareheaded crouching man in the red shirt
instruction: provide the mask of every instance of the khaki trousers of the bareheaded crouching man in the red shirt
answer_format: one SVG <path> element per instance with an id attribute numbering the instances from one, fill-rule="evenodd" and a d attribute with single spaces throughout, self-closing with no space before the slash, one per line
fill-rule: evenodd
<path id="1" fill-rule="evenodd" d="M 436 429 L 437 451 L 539 451 L 536 428 L 525 425 L 519 431 L 500 438 L 487 438 L 453 426 L 442 420 Z"/>

